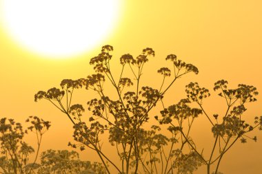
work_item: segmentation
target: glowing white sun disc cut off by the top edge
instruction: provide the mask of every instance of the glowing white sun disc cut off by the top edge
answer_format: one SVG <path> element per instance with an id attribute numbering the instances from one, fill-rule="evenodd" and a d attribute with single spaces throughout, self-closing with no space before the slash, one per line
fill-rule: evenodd
<path id="1" fill-rule="evenodd" d="M 63 58 L 97 46 L 112 32 L 120 0 L 3 0 L 3 28 L 37 54 Z M 101 44 L 101 43 L 100 43 Z"/>

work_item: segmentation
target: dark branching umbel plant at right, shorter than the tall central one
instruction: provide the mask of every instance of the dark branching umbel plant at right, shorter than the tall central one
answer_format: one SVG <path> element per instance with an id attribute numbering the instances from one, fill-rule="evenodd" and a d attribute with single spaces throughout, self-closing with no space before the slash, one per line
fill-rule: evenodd
<path id="1" fill-rule="evenodd" d="M 222 118 L 216 113 L 212 116 L 206 113 L 203 107 L 203 100 L 210 96 L 210 92 L 204 87 L 199 87 L 198 83 L 186 85 L 185 91 L 188 94 L 188 98 L 181 100 L 177 105 L 172 105 L 164 109 L 161 111 L 162 119 L 157 118 L 160 124 L 170 124 L 170 131 L 181 134 L 181 143 L 189 144 L 190 151 L 199 156 L 199 160 L 207 166 L 208 173 L 210 173 L 210 166 L 212 164 L 216 164 L 213 173 L 219 173 L 219 164 L 221 163 L 223 155 L 230 150 L 237 140 L 240 140 L 242 143 L 247 142 L 247 139 L 256 142 L 256 136 L 250 138 L 247 133 L 253 131 L 256 127 L 259 127 L 261 130 L 262 126 L 262 116 L 260 118 L 255 117 L 254 124 L 243 120 L 243 113 L 246 111 L 245 104 L 256 101 L 256 98 L 254 98 L 258 95 L 256 88 L 240 84 L 236 89 L 228 89 L 227 85 L 228 81 L 226 80 L 219 80 L 214 83 L 214 91 L 220 91 L 219 96 L 225 99 L 227 105 L 225 115 Z M 196 102 L 199 108 L 192 109 L 190 107 L 192 102 Z M 208 118 L 215 138 L 212 152 L 208 157 L 206 157 L 206 154 L 203 154 L 203 151 L 196 149 L 196 145 L 190 136 L 192 123 L 200 113 L 203 113 L 203 115 Z M 188 130 L 185 130 L 186 127 L 188 127 Z M 192 173 L 192 171 L 190 171 L 190 173 Z"/>

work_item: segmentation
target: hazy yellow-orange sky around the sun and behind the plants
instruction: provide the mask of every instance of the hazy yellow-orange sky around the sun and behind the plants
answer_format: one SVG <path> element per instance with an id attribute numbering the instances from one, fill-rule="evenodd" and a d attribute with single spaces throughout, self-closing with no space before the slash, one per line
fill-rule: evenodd
<path id="1" fill-rule="evenodd" d="M 232 88 L 243 83 L 254 85 L 261 93 L 261 8 L 262 1 L 257 0 L 123 1 L 108 36 L 92 50 L 65 59 L 35 54 L 21 47 L 8 36 L 1 23 L 0 117 L 14 118 L 19 122 L 24 122 L 28 116 L 49 120 L 52 127 L 43 137 L 41 150 L 70 149 L 67 146 L 72 140 L 70 120 L 47 101 L 34 102 L 34 94 L 39 90 L 59 87 L 65 78 L 85 78 L 91 74 L 90 58 L 97 56 L 103 45 L 114 47 L 112 67 L 115 74 L 120 70 L 118 58 L 121 55 L 129 53 L 137 56 L 145 47 L 152 47 L 156 56 L 145 67 L 143 77 L 149 85 L 161 81 L 161 78 L 158 81 L 156 72 L 159 67 L 167 65 L 165 57 L 168 54 L 176 54 L 183 61 L 196 65 L 199 74 L 180 79 L 165 98 L 168 105 L 185 98 L 184 87 L 191 81 L 212 91 L 217 80 L 225 79 Z M 73 101 L 85 105 L 88 95 L 91 95 L 89 92 L 79 90 Z M 254 116 L 262 116 L 262 95 L 257 99 L 257 102 L 247 105 L 245 116 L 250 122 Z M 204 106 L 210 114 L 223 113 L 226 107 L 213 91 Z M 159 113 L 154 111 L 152 116 L 156 114 Z M 210 129 L 203 117 L 194 125 L 194 138 L 200 147 L 212 142 Z M 221 164 L 223 173 L 262 173 L 262 132 L 255 131 L 253 134 L 257 135 L 258 142 L 238 142 L 225 155 Z M 28 141 L 36 145 L 34 137 L 29 137 Z M 81 157 L 98 160 L 92 154 L 85 151 Z"/>

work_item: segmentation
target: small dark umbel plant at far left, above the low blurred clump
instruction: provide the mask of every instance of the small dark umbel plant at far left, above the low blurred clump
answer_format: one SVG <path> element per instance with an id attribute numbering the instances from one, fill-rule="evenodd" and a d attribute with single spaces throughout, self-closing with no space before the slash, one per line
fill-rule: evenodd
<path id="1" fill-rule="evenodd" d="M 37 156 L 43 133 L 49 127 L 50 122 L 44 121 L 37 116 L 30 116 L 26 122 L 30 122 L 31 126 L 23 131 L 21 123 L 15 122 L 13 119 L 1 118 L 0 120 L 0 142 L 1 142 L 1 157 L 0 168 L 3 172 L 0 173 L 31 173 L 34 168 L 38 167 L 36 164 Z M 37 134 L 37 153 L 33 163 L 28 164 L 28 156 L 34 153 L 32 146 L 23 141 L 25 133 L 28 130 Z"/>

